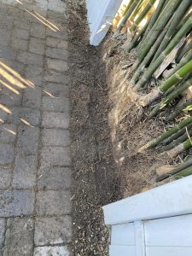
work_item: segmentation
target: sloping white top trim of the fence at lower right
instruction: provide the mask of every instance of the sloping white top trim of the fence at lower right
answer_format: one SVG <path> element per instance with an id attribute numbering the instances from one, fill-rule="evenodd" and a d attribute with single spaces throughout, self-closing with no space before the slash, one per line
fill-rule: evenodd
<path id="1" fill-rule="evenodd" d="M 103 207 L 106 224 L 192 213 L 192 176 Z"/>

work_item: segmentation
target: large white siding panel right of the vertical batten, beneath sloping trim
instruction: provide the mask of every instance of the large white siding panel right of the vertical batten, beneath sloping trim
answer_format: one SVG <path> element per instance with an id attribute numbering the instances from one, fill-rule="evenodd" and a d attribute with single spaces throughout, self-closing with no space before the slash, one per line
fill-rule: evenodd
<path id="1" fill-rule="evenodd" d="M 192 215 L 151 220 L 144 230 L 147 246 L 192 247 Z"/>

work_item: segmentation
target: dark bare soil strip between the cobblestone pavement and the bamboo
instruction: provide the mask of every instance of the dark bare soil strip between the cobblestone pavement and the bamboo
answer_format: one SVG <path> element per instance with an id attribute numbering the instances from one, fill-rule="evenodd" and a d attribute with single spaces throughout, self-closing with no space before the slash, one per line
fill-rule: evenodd
<path id="1" fill-rule="evenodd" d="M 68 4 L 73 253 L 108 255 L 102 206 L 121 198 L 108 127 L 108 88 L 99 49 L 89 44 L 84 3 Z"/>

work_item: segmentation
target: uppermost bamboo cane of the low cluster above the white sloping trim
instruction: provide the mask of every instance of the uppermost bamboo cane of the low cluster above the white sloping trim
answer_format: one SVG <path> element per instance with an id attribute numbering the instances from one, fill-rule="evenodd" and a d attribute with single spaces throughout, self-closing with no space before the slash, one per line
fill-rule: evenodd
<path id="1" fill-rule="evenodd" d="M 150 141 L 147 144 L 145 144 L 142 148 L 139 148 L 139 152 L 142 152 L 143 150 L 148 149 L 148 148 L 156 147 L 159 143 L 161 143 L 164 140 L 166 140 L 167 137 L 171 137 L 172 134 L 176 133 L 177 131 L 180 131 L 181 129 L 183 129 L 183 127 L 185 127 L 185 126 L 187 126 L 187 125 L 189 125 L 191 123 L 192 123 L 192 116 L 189 117 L 188 119 L 184 119 L 179 124 L 173 126 L 168 131 L 162 133 L 159 137 L 156 137 L 152 141 Z"/>

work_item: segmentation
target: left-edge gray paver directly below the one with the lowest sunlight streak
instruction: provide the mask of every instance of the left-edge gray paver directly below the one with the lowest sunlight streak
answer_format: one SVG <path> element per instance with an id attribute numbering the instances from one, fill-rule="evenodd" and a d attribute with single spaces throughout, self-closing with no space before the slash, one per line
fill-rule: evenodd
<path id="1" fill-rule="evenodd" d="M 0 165 L 9 165 L 14 161 L 14 146 L 0 144 Z"/>

